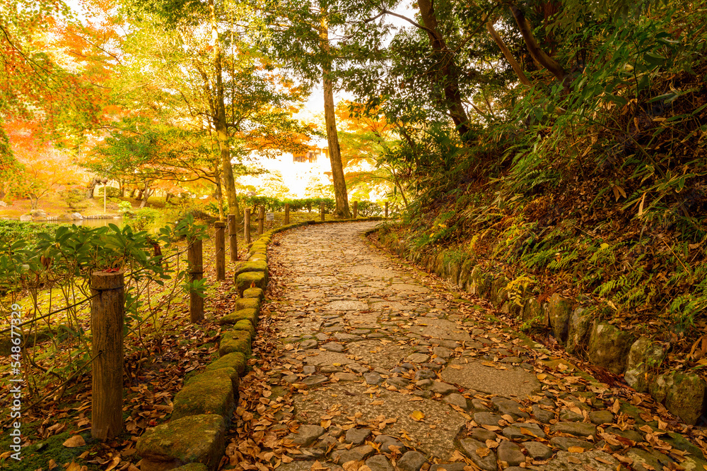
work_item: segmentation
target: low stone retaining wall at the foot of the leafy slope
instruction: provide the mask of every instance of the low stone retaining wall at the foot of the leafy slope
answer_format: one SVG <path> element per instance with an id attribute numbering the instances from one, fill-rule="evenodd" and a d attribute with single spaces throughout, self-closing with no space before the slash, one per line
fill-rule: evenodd
<path id="1" fill-rule="evenodd" d="M 662 371 L 667 352 L 661 344 L 602 321 L 602 306 L 552 294 L 540 301 L 508 280 L 501 270 L 482 265 L 459 251 L 421 252 L 394 234 L 373 229 L 378 242 L 402 258 L 455 283 L 460 290 L 489 300 L 496 309 L 546 326 L 565 350 L 617 375 L 639 393 L 650 393 L 686 424 L 707 410 L 706 383 L 694 373 Z M 547 287 L 546 287 L 547 288 Z"/>

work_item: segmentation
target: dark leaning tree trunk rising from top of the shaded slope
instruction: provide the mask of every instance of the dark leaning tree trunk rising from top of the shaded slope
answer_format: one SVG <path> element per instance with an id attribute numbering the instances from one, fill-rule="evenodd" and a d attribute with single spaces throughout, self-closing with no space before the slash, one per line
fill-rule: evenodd
<path id="1" fill-rule="evenodd" d="M 464 138 L 469 132 L 469 117 L 462 103 L 462 93 L 459 90 L 459 69 L 454 62 L 455 54 L 449 50 L 447 43 L 438 30 L 438 21 L 432 0 L 418 0 L 422 23 L 426 28 L 432 49 L 437 53 L 440 64 L 437 81 L 444 91 L 445 105 L 449 116 L 457 127 L 457 132 Z"/>

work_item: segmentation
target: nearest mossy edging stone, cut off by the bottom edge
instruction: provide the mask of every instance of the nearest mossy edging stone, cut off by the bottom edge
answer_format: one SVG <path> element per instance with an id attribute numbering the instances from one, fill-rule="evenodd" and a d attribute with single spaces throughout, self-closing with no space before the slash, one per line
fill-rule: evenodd
<path id="1" fill-rule="evenodd" d="M 226 449 L 226 421 L 216 414 L 190 415 L 147 429 L 136 443 L 142 471 L 201 463 L 216 470 Z"/>

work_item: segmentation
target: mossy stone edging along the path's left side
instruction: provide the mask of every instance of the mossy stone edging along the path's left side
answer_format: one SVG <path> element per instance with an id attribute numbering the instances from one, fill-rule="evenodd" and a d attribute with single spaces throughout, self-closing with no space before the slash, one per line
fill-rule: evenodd
<path id="1" fill-rule="evenodd" d="M 358 218 L 356 222 L 382 220 Z M 305 225 L 353 220 L 307 221 L 264 232 L 250 246 L 245 261 L 235 268 L 239 299 L 233 314 L 218 319 L 224 328 L 219 358 L 206 371 L 189 378 L 175 395 L 170 422 L 147 429 L 136 443 L 141 471 L 215 470 L 226 448 L 226 427 L 238 404 L 240 376 L 250 357 L 260 306 L 268 282 L 267 246 L 272 236 Z"/>

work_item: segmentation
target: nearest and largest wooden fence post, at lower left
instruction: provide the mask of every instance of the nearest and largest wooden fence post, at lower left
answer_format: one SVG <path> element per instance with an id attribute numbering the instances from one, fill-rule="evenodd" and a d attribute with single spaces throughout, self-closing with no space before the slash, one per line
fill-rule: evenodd
<path id="1" fill-rule="evenodd" d="M 90 434 L 105 440 L 118 436 L 123 428 L 123 274 L 91 273 L 90 292 L 95 296 L 90 304 Z"/>

